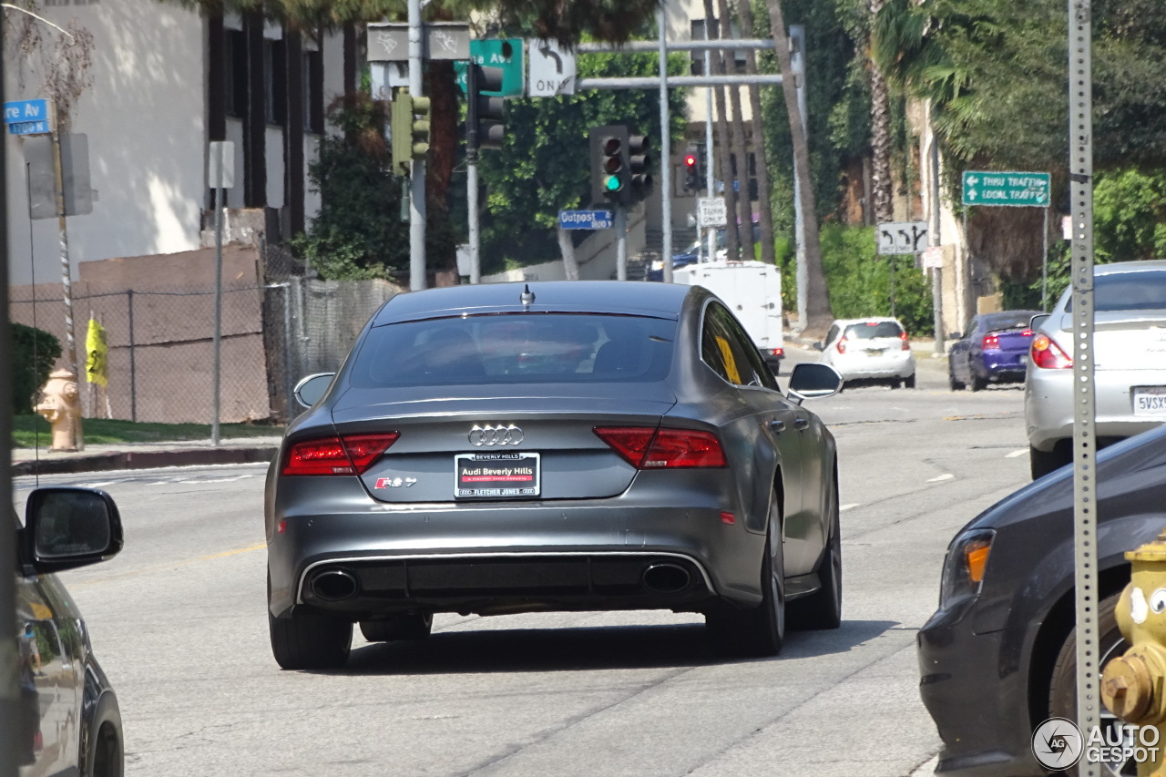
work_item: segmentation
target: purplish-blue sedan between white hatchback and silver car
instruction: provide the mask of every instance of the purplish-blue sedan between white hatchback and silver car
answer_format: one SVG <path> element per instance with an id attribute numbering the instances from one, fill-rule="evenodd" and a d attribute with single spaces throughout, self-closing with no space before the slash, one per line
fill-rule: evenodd
<path id="1" fill-rule="evenodd" d="M 1024 383 L 1032 344 L 1032 317 L 1039 310 L 1004 310 L 972 316 L 948 352 L 951 391 L 981 391 L 990 383 Z"/>

